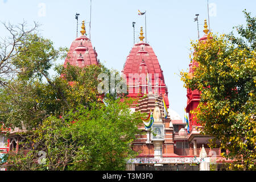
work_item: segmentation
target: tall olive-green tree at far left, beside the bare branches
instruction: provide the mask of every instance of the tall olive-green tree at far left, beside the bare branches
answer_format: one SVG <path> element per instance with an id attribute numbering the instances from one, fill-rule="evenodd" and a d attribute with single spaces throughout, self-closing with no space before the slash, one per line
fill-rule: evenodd
<path id="1" fill-rule="evenodd" d="M 15 68 L 14 77 L 0 81 L 0 120 L 6 127 L 35 127 L 56 110 L 58 97 L 65 103 L 59 77 L 49 79 L 49 69 L 64 49 L 55 49 L 49 39 L 27 34 L 18 47 L 18 53 L 9 57 Z M 42 81 L 46 78 L 47 83 Z M 49 93 L 48 93 L 49 91 Z M 54 110 L 55 109 L 55 110 Z"/>

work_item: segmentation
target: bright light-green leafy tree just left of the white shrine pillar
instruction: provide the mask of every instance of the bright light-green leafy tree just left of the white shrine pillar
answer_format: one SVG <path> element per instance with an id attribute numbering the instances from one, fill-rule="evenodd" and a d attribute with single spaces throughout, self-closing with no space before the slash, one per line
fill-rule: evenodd
<path id="1" fill-rule="evenodd" d="M 79 150 L 69 169 L 75 170 L 124 170 L 126 159 L 137 152 L 131 148 L 135 134 L 141 134 L 138 125 L 141 115 L 131 113 L 131 100 L 106 100 L 106 105 L 71 114 L 73 137 L 79 141 Z"/>

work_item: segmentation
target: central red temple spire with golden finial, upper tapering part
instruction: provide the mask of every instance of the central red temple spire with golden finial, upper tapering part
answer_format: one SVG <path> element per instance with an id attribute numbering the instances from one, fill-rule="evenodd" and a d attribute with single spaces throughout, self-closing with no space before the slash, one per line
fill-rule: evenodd
<path id="1" fill-rule="evenodd" d="M 127 56 L 125 65 L 123 67 L 122 73 L 126 76 L 127 79 L 127 85 L 130 87 L 135 87 L 134 93 L 128 94 L 128 97 L 137 97 L 138 92 L 136 90 L 139 90 L 139 86 L 147 84 L 146 82 L 142 82 L 140 80 L 139 84 L 136 84 L 135 82 L 129 83 L 129 74 L 138 73 L 139 75 L 141 73 L 144 73 L 144 75 L 149 75 L 149 80 L 151 80 L 151 86 L 152 91 L 154 92 L 156 86 L 158 86 L 158 94 L 166 94 L 165 102 L 166 105 L 169 105 L 168 102 L 168 91 L 167 86 L 164 83 L 164 76 L 163 71 L 160 67 L 160 64 L 158 62 L 158 58 L 155 55 L 154 50 L 150 46 L 150 44 L 143 41 L 144 36 L 141 28 L 141 36 L 139 37 L 140 41 L 136 44 L 134 44 L 133 48 L 131 49 L 129 56 Z M 156 75 L 155 75 L 156 74 Z M 142 79 L 143 80 L 143 79 Z M 144 79 L 146 80 L 146 79 Z M 147 84 L 148 85 L 148 84 Z M 143 91 L 139 91 L 140 93 L 145 93 Z M 147 92 L 148 93 L 148 90 Z M 168 106 L 167 106 L 168 107 Z"/>

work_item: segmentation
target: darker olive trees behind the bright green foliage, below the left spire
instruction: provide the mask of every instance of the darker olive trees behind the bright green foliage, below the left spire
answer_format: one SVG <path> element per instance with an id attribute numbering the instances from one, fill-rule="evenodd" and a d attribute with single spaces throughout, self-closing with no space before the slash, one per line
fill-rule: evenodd
<path id="1" fill-rule="evenodd" d="M 55 49 L 51 40 L 36 34 L 27 35 L 23 44 L 26 46 L 11 57 L 16 77 L 0 82 L 0 120 L 6 127 L 25 126 L 30 130 L 49 116 L 101 101 L 97 77 L 100 73 L 110 75 L 104 65 L 64 68 L 54 63 L 65 56 L 65 48 Z M 57 72 L 55 76 L 49 76 L 51 68 Z M 107 96 L 110 98 L 110 94 Z M 115 99 L 117 94 L 111 97 Z"/>

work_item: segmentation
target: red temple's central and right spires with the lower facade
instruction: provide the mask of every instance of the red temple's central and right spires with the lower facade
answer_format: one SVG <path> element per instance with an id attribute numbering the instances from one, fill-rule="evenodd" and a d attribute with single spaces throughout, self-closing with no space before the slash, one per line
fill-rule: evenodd
<path id="1" fill-rule="evenodd" d="M 208 31 L 205 20 L 205 35 L 199 41 L 208 38 Z M 220 164 L 222 161 L 220 148 L 209 148 L 208 140 L 212 137 L 200 134 L 202 126 L 190 113 L 199 105 L 200 92 L 187 90 L 185 110 L 189 113 L 188 130 L 185 121 L 171 109 L 163 71 L 152 47 L 143 42 L 142 27 L 140 34 L 139 42 L 133 46 L 127 56 L 122 73 L 127 80 L 128 97 L 139 98 L 133 110 L 147 114 L 151 110 L 154 111 L 154 124 L 151 129 L 141 125 L 141 129 L 146 134 L 139 135 L 133 142 L 133 150 L 138 151 L 139 155 L 137 158 L 129 160 L 130 164 L 127 164 L 127 168 L 129 170 L 150 170 L 152 168 L 197 170 L 196 166 L 191 167 L 192 163 L 196 163 L 200 170 L 209 170 L 210 162 Z M 193 75 L 193 67 L 197 67 L 197 65 L 194 60 L 189 64 L 191 75 Z M 164 116 L 163 102 L 168 108 L 166 117 Z M 189 165 L 191 168 L 187 167 Z"/>

